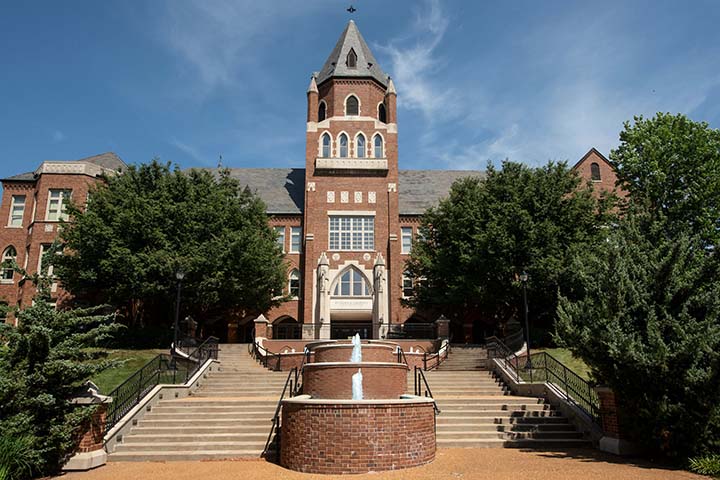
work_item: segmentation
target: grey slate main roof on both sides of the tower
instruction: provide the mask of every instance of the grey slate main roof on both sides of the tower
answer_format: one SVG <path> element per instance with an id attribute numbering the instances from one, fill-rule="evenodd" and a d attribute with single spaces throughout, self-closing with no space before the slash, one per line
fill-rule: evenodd
<path id="1" fill-rule="evenodd" d="M 447 196 L 458 178 L 484 176 L 477 170 L 400 170 L 400 214 L 421 215 Z M 304 168 L 232 168 L 230 176 L 257 193 L 274 215 L 299 215 L 304 210 Z"/>

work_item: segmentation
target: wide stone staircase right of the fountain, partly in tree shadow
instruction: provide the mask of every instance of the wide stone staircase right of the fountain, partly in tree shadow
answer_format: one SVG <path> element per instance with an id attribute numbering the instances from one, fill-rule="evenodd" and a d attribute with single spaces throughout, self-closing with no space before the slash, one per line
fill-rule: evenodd
<path id="1" fill-rule="evenodd" d="M 512 395 L 491 372 L 481 369 L 486 359 L 482 348 L 453 347 L 443 364 L 425 372 L 441 410 L 437 417 L 438 448 L 591 446 L 543 399 Z M 410 383 L 408 391 L 412 389 Z"/>

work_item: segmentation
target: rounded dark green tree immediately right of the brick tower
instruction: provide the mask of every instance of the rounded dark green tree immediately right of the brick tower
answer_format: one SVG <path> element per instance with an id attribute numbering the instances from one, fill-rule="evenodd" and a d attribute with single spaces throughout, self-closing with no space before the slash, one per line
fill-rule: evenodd
<path id="1" fill-rule="evenodd" d="M 489 165 L 485 178 L 455 182 L 423 216 L 426 241 L 416 242 L 408 263 L 422 279 L 411 303 L 492 328 L 519 316 L 517 276 L 525 270 L 533 323 L 551 325 L 568 252 L 598 238 L 610 203 L 598 202 L 565 163 L 506 161 L 501 170 Z"/>

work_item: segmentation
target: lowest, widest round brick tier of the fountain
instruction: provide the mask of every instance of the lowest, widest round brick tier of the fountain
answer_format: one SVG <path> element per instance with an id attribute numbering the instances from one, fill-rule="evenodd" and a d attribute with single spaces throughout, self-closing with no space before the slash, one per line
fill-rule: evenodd
<path id="1" fill-rule="evenodd" d="M 280 464 L 306 473 L 397 470 L 435 458 L 432 401 L 283 401 Z"/>

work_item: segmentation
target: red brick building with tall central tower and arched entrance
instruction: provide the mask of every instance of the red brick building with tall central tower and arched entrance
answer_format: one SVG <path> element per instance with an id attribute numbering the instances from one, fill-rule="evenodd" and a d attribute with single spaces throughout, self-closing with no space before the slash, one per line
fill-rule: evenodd
<path id="1" fill-rule="evenodd" d="M 37 271 L 57 230 L 53 198 L 69 190 L 78 201 L 98 175 L 123 166 L 103 154 L 45 162 L 32 174 L 3 180 L 3 256 L 14 254 Z M 612 167 L 597 150 L 574 168 L 600 188 L 614 188 Z M 434 315 L 401 304 L 412 287 L 403 265 L 425 209 L 456 179 L 483 172 L 398 168 L 397 92 L 350 21 L 307 90 L 305 168 L 232 169 L 231 175 L 265 201 L 290 265 L 287 288 L 294 299 L 265 314 L 273 337 L 344 338 L 357 331 L 381 338 L 405 324 L 417 332 L 431 328 Z M 33 293 L 27 290 L 17 275 L 3 274 L 4 301 L 27 304 Z M 252 320 L 231 321 L 213 333 L 247 340 Z"/>

